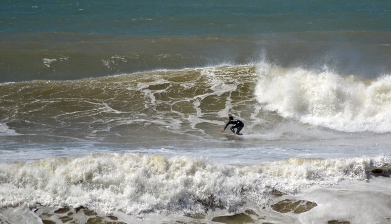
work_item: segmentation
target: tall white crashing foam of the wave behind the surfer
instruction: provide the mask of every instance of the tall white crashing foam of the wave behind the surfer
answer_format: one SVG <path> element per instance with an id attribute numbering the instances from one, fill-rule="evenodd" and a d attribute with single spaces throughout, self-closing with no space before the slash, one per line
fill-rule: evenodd
<path id="1" fill-rule="evenodd" d="M 258 75 L 255 95 L 264 110 L 339 131 L 391 131 L 391 76 L 360 80 L 265 64 Z"/>

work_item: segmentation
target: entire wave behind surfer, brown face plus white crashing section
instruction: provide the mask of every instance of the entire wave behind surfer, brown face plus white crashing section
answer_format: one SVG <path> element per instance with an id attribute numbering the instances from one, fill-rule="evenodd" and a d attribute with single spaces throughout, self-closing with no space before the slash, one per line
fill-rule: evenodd
<path id="1" fill-rule="evenodd" d="M 391 131 L 389 75 L 365 79 L 262 64 L 4 83 L 0 91 L 0 123 L 12 130 L 0 133 L 43 142 L 209 141 L 228 115 L 245 122 L 246 134 L 292 130 L 292 122 L 309 125 L 296 130 L 302 135 L 308 127 Z"/>

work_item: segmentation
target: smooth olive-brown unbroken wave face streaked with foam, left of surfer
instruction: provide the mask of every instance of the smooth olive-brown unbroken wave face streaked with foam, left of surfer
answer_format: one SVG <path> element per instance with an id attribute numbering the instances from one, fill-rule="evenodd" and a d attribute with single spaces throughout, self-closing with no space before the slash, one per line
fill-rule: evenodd
<path id="1" fill-rule="evenodd" d="M 1 122 L 20 134 L 62 140 L 129 136 L 129 130 L 136 137 L 206 136 L 222 128 L 229 112 L 251 112 L 242 104 L 255 103 L 255 79 L 253 66 L 226 66 L 6 83 Z"/>

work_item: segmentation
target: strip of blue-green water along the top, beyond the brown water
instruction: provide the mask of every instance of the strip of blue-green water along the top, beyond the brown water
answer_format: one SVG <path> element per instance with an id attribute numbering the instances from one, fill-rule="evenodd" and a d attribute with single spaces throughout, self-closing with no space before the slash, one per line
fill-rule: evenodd
<path id="1" fill-rule="evenodd" d="M 0 32 L 119 35 L 259 34 L 391 30 L 388 0 L 12 0 L 0 2 Z"/>

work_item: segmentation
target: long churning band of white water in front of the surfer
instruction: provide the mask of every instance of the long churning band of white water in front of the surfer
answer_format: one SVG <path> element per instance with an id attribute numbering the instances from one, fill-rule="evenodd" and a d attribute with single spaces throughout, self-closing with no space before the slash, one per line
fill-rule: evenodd
<path id="1" fill-rule="evenodd" d="M 203 213 L 267 206 L 278 190 L 294 194 L 343 180 L 367 181 L 366 170 L 390 164 L 385 157 L 290 158 L 236 166 L 189 157 L 94 154 L 0 165 L 1 207 L 84 206 L 97 212 Z"/>

